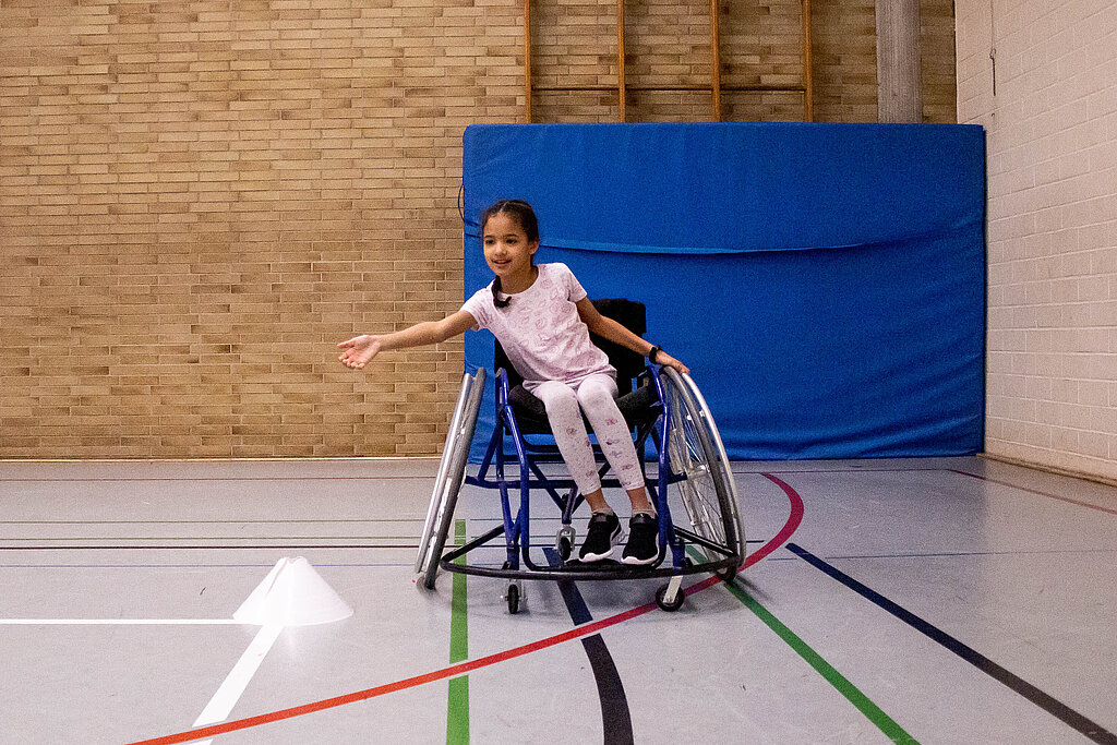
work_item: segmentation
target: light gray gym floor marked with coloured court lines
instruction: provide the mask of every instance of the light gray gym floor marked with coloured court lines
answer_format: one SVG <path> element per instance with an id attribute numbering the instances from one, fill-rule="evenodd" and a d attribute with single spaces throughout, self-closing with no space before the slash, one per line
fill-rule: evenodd
<path id="1" fill-rule="evenodd" d="M 496 580 L 413 583 L 436 467 L 0 464 L 0 741 L 1117 743 L 1117 489 L 738 462 L 733 586 L 667 613 L 657 581 L 533 582 L 509 615 Z M 483 533 L 495 493 L 457 515 Z M 232 622 L 295 556 L 353 615 Z"/>

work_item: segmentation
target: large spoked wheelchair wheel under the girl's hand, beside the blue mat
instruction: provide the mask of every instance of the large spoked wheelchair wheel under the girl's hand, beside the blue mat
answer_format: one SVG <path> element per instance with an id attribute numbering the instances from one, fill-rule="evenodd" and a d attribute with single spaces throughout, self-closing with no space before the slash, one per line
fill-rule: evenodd
<path id="1" fill-rule="evenodd" d="M 686 477 L 672 486 L 687 512 L 691 531 L 744 561 L 745 538 L 737 513 L 736 488 L 714 418 L 689 375 L 671 367 L 663 367 L 662 373 L 660 382 L 670 409 L 666 442 L 668 461 L 675 474 Z M 698 548 L 706 561 L 726 558 L 709 547 Z M 727 567 L 717 574 L 727 580 L 737 569 Z"/>

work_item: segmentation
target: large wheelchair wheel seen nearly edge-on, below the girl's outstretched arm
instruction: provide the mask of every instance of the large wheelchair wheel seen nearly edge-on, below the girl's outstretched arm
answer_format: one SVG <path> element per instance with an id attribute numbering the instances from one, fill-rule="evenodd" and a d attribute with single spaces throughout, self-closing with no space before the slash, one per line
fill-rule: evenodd
<path id="1" fill-rule="evenodd" d="M 477 427 L 477 411 L 480 409 L 484 391 L 484 367 L 475 375 L 466 373 L 462 376 L 461 392 L 446 434 L 446 446 L 442 448 L 442 459 L 439 461 L 427 520 L 419 538 L 419 554 L 416 557 L 416 572 L 421 574 L 422 585 L 428 590 L 435 586 L 438 564 L 454 523 L 454 508 L 466 476 L 469 446 Z"/>

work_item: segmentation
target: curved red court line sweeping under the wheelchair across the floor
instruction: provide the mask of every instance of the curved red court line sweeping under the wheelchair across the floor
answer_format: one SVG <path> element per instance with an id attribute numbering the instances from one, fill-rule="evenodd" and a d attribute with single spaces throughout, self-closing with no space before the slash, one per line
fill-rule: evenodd
<path id="1" fill-rule="evenodd" d="M 747 569 L 761 561 L 773 551 L 786 543 L 787 538 L 799 528 L 800 523 L 803 522 L 803 500 L 799 494 L 787 486 L 784 481 L 772 476 L 771 474 L 761 474 L 770 481 L 774 483 L 783 493 L 787 495 L 787 499 L 791 502 L 791 514 L 787 516 L 787 522 L 784 523 L 780 532 L 773 536 L 771 541 L 765 543 L 763 546 L 754 551 L 742 564 L 741 569 Z M 710 576 L 701 582 L 696 582 L 695 584 L 686 588 L 684 592 L 687 595 L 693 595 L 696 592 L 701 592 L 707 588 L 710 588 L 718 582 L 720 582 L 716 576 Z M 581 637 L 589 637 L 594 634 L 602 629 L 608 629 L 609 627 L 617 625 L 630 619 L 643 615 L 645 613 L 650 613 L 656 610 L 656 603 L 648 603 L 647 605 L 640 605 L 639 608 L 633 608 L 632 610 L 624 611 L 623 613 L 618 613 L 615 615 L 610 615 L 609 618 L 601 619 L 600 621 L 593 621 L 592 623 L 586 623 L 584 625 L 575 627 L 570 631 L 564 631 L 563 633 L 556 634 L 554 637 L 547 637 L 545 639 L 540 639 L 538 641 L 533 641 L 521 647 L 513 647 L 512 649 L 506 649 L 503 652 L 497 652 L 495 655 L 489 655 L 487 657 L 479 657 L 476 660 L 466 660 L 465 662 L 459 662 L 458 665 L 451 665 L 450 667 L 442 668 L 441 670 L 435 670 L 432 672 L 427 672 L 423 675 L 414 676 L 412 678 L 404 678 L 403 680 L 397 680 L 395 682 L 385 684 L 383 686 L 376 686 L 374 688 L 366 688 L 364 690 L 357 690 L 352 694 L 346 694 L 344 696 L 336 696 L 334 698 L 325 698 L 321 701 L 314 701 L 312 704 L 304 704 L 303 706 L 295 706 L 288 709 L 280 709 L 278 711 L 270 711 L 268 714 L 260 714 L 255 717 L 248 717 L 246 719 L 236 719 L 233 722 L 226 722 L 218 725 L 212 725 L 209 727 L 202 727 L 200 729 L 191 729 L 190 732 L 182 732 L 175 735 L 166 735 L 164 737 L 155 737 L 153 739 L 141 739 L 134 743 L 128 743 L 128 745 L 175 745 L 176 743 L 189 743 L 194 739 L 204 739 L 208 737 L 216 737 L 217 735 L 225 735 L 230 732 L 237 732 L 239 729 L 249 729 L 251 727 L 258 727 L 260 725 L 270 724 L 273 722 L 281 722 L 283 719 L 293 719 L 295 717 L 304 716 L 306 714 L 313 714 L 315 711 L 322 711 L 324 709 L 332 709 L 338 706 L 345 706 L 346 704 L 355 704 L 356 701 L 367 700 L 370 698 L 376 698 L 378 696 L 383 696 L 384 694 L 395 693 L 398 690 L 404 690 L 407 688 L 414 688 L 423 684 L 433 682 L 436 680 L 442 680 L 445 678 L 452 678 L 478 668 L 488 667 L 490 665 L 496 665 L 497 662 L 504 662 L 505 660 L 515 659 L 517 657 L 523 657 L 524 655 L 529 655 L 532 652 L 537 652 L 542 649 L 547 649 L 550 647 L 555 647 L 566 641 L 573 639 L 580 639 Z"/>

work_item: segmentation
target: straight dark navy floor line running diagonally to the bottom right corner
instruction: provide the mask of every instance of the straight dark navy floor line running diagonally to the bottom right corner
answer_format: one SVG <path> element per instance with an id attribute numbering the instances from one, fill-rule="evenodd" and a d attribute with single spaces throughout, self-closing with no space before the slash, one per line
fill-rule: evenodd
<path id="1" fill-rule="evenodd" d="M 1003 667 L 989 659 L 977 650 L 972 647 L 967 647 L 962 643 L 951 634 L 946 633 L 942 629 L 938 629 L 927 621 L 923 620 L 911 611 L 898 605 L 897 603 L 888 600 L 881 595 L 876 590 L 872 590 L 848 574 L 843 573 L 841 570 L 828 564 L 823 560 L 819 558 L 811 552 L 806 551 L 802 546 L 794 543 L 787 544 L 787 550 L 794 553 L 796 556 L 805 561 L 811 566 L 821 570 L 825 574 L 830 575 L 832 579 L 838 580 L 843 585 L 858 593 L 866 600 L 875 603 L 882 610 L 888 611 L 900 621 L 904 621 L 910 625 L 916 631 L 919 631 L 924 636 L 930 638 L 932 640 L 938 642 L 946 649 L 951 650 L 965 661 L 970 662 L 978 670 L 985 675 L 992 677 L 1012 690 L 1016 691 L 1032 704 L 1035 704 L 1042 708 L 1048 714 L 1061 719 L 1063 723 L 1073 727 L 1081 734 L 1089 737 L 1095 743 L 1102 743 L 1105 745 L 1117 745 L 1117 735 L 1102 727 L 1101 725 L 1092 722 L 1078 711 L 1073 710 L 1062 701 L 1053 698 L 1052 696 L 1043 693 L 1032 684 L 1020 678 L 1019 676 L 1005 670 Z"/>

